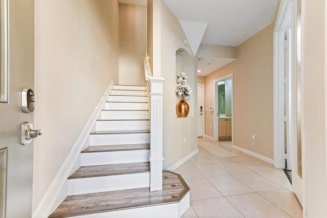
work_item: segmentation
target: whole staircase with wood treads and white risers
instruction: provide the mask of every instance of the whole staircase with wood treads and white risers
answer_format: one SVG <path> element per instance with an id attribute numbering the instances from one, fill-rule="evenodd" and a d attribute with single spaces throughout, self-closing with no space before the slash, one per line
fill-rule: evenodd
<path id="1" fill-rule="evenodd" d="M 189 187 L 162 173 L 150 191 L 150 120 L 146 86 L 113 85 L 81 166 L 67 178 L 67 198 L 49 217 L 179 217 Z"/>

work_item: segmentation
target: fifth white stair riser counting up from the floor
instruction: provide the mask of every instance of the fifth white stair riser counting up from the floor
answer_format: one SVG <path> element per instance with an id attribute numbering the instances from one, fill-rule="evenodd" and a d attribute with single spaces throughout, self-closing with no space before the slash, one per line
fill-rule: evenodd
<path id="1" fill-rule="evenodd" d="M 97 131 L 150 129 L 149 120 L 97 121 Z"/>

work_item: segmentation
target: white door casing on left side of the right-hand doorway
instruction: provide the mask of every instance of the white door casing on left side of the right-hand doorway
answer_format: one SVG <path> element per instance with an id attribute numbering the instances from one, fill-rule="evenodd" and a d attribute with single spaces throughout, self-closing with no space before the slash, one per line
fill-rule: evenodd
<path id="1" fill-rule="evenodd" d="M 274 167 L 284 169 L 285 121 L 284 121 L 284 58 L 285 29 L 291 16 L 291 0 L 282 0 L 274 28 L 273 60 L 273 145 Z"/>

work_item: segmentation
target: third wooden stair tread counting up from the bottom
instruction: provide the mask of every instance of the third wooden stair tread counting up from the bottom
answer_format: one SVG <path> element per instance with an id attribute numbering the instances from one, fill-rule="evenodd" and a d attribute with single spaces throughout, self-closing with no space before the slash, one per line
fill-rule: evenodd
<path id="1" fill-rule="evenodd" d="M 147 149 L 150 149 L 150 144 L 100 145 L 100 146 L 89 146 L 84 150 L 82 150 L 82 153 L 123 151 L 123 150 L 147 150 Z"/>

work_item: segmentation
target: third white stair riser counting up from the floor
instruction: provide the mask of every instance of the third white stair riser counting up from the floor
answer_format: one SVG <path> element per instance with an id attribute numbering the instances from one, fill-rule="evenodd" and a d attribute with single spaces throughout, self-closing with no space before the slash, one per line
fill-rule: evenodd
<path id="1" fill-rule="evenodd" d="M 81 166 L 148 162 L 150 150 L 89 152 L 81 154 Z"/>

